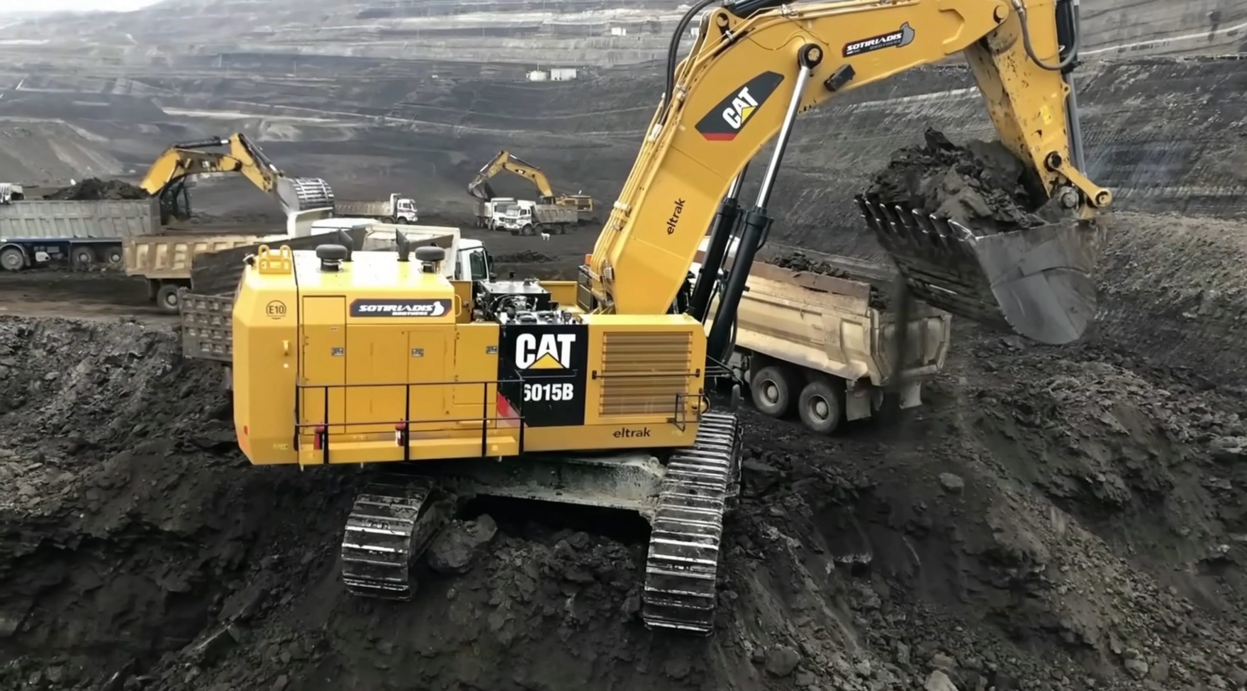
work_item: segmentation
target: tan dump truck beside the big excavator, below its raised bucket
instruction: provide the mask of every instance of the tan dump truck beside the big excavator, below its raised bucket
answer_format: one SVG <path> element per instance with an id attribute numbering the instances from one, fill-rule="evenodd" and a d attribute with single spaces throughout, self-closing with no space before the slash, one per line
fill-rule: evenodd
<path id="1" fill-rule="evenodd" d="M 703 241 L 693 276 L 705 251 Z M 753 262 L 737 308 L 736 347 L 725 363 L 748 387 L 753 405 L 773 418 L 794 413 L 822 434 L 884 407 L 920 405 L 923 383 L 944 368 L 951 316 L 913 303 L 898 363 L 900 317 L 884 301 L 894 271 L 835 256 L 817 258 L 840 276 Z"/>

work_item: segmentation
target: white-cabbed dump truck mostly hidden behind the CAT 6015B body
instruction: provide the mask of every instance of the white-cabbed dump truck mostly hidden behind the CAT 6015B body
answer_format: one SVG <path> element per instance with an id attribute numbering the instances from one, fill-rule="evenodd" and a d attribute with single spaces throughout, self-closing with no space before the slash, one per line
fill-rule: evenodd
<path id="1" fill-rule="evenodd" d="M 409 251 L 421 246 L 436 246 L 454 261 L 441 263 L 440 276 L 450 281 L 488 281 L 493 277 L 493 258 L 479 239 L 461 237 L 459 228 L 451 226 L 403 226 L 377 223 L 368 228 L 360 238 L 353 238 L 355 249 L 364 252 L 398 252 L 398 239 L 407 239 Z M 315 237 L 315 243 L 333 241 L 325 236 Z M 307 246 L 312 238 L 298 246 Z M 273 238 L 272 246 L 289 244 L 284 238 Z M 238 272 L 242 271 L 241 262 Z M 465 283 L 466 284 L 466 283 Z M 466 298 L 470 299 L 470 292 Z M 209 359 L 229 363 L 233 358 L 231 336 L 231 313 L 233 293 L 178 291 L 177 311 L 182 318 L 182 354 L 187 358 Z M 274 308 L 276 309 L 276 308 Z M 284 309 L 284 307 L 282 308 Z M 465 314 L 466 316 L 466 314 Z M 226 378 L 228 380 L 228 377 Z"/>

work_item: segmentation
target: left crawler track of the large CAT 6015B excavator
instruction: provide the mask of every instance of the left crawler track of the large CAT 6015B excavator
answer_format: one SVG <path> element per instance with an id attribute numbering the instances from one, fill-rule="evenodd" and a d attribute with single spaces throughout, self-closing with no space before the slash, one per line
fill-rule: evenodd
<path id="1" fill-rule="evenodd" d="M 395 475 L 355 496 L 342 536 L 347 590 L 365 597 L 412 599 L 412 563 L 449 518 L 436 491 L 429 478 Z"/>

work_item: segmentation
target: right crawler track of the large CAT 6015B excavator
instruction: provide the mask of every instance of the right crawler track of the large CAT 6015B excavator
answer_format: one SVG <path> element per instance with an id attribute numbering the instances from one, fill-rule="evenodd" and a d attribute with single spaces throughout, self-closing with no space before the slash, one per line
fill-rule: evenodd
<path id="1" fill-rule="evenodd" d="M 723 514 L 739 494 L 736 415 L 707 413 L 692 447 L 667 461 L 650 534 L 641 619 L 650 629 L 715 627 Z"/>

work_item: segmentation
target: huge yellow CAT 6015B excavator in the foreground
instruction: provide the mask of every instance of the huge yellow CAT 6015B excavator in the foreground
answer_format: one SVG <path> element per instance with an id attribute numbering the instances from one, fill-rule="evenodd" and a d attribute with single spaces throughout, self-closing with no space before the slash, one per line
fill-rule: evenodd
<path id="1" fill-rule="evenodd" d="M 242 450 L 253 464 L 394 473 L 347 518 L 350 591 L 412 597 L 414 558 L 465 496 L 609 506 L 651 524 L 645 624 L 711 632 L 739 429 L 738 389 L 716 409 L 710 384 L 797 115 L 859 86 L 961 52 L 1052 207 L 1050 225 L 996 232 L 863 201 L 909 287 L 1049 343 L 1086 327 L 1111 195 L 1081 172 L 1076 0 L 739 0 L 710 10 L 676 64 L 710 2 L 676 29 L 662 101 L 577 281 L 448 281 L 443 249 L 402 236 L 397 253 L 327 243 L 248 259 L 232 316 Z M 746 165 L 772 140 L 757 201 L 738 213 Z M 718 278 L 737 216 L 736 258 Z M 812 378 L 799 404 L 842 394 Z"/>

